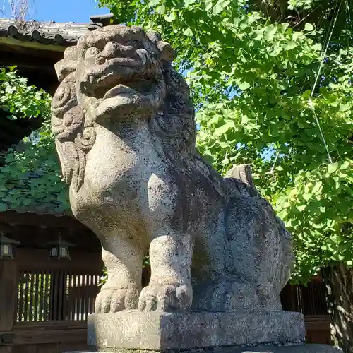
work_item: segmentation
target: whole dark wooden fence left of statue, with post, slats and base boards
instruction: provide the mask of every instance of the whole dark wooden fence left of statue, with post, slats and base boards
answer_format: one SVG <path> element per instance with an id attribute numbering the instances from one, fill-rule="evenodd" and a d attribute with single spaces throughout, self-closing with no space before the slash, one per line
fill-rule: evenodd
<path id="1" fill-rule="evenodd" d="M 0 353 L 87 350 L 100 253 L 76 251 L 58 261 L 46 250 L 18 250 L 15 260 L 0 260 Z"/>

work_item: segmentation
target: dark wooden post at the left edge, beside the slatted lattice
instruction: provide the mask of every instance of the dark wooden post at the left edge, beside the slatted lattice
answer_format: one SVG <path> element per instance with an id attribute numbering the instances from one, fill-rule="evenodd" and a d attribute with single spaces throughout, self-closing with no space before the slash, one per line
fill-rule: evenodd
<path id="1" fill-rule="evenodd" d="M 0 332 L 11 332 L 16 320 L 18 292 L 16 260 L 0 259 Z"/>

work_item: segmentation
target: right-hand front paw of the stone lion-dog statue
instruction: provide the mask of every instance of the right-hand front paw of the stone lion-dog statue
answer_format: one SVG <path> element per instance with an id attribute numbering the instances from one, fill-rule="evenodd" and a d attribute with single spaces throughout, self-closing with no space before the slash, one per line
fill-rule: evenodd
<path id="1" fill-rule="evenodd" d="M 192 289 L 181 285 L 149 285 L 142 289 L 138 301 L 141 311 L 185 311 L 191 308 Z"/>

